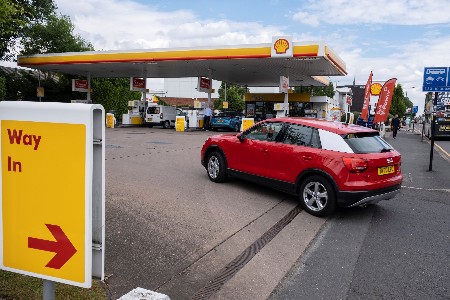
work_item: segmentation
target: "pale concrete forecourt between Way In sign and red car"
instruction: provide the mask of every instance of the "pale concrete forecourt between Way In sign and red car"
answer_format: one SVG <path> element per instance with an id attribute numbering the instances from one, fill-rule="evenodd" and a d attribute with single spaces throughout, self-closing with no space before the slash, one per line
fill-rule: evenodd
<path id="1" fill-rule="evenodd" d="M 211 182 L 200 150 L 213 134 L 106 130 L 106 146 L 121 147 L 105 149 L 105 272 L 111 298 L 142 287 L 172 300 L 189 299 L 297 206 L 296 197 L 242 180 Z M 325 220 L 300 213 L 227 283 L 233 291 L 224 287 L 214 299 L 266 299 Z M 261 286 L 252 291 L 255 282 Z"/>

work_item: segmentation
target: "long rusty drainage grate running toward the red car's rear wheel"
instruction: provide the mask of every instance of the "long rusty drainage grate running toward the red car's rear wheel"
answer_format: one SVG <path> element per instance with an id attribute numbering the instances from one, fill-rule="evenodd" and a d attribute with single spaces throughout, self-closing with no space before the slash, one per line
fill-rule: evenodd
<path id="1" fill-rule="evenodd" d="M 217 290 L 219 290 L 225 282 L 229 281 L 236 273 L 238 273 L 244 265 L 246 265 L 255 255 L 261 251 L 278 233 L 283 230 L 291 221 L 302 211 L 302 206 L 299 204 L 291 210 L 283 219 L 279 220 L 272 228 L 266 231 L 256 242 L 244 250 L 238 257 L 236 257 L 225 269 L 220 271 L 215 278 L 205 284 L 198 290 L 189 300 L 206 300 Z"/>

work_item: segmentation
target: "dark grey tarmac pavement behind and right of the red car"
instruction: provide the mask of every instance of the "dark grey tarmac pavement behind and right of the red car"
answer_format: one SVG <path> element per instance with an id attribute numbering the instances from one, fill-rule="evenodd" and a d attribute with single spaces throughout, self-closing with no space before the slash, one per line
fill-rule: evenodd
<path id="1" fill-rule="evenodd" d="M 396 198 L 338 209 L 271 293 L 282 299 L 450 299 L 448 158 L 419 132 L 386 140 L 402 155 Z"/>

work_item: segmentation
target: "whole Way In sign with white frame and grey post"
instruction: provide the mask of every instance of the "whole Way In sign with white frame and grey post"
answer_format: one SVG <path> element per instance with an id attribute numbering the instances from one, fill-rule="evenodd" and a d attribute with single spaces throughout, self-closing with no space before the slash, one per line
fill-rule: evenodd
<path id="1" fill-rule="evenodd" d="M 0 103 L 0 268 L 44 279 L 47 299 L 104 278 L 104 120 L 98 104 Z"/>

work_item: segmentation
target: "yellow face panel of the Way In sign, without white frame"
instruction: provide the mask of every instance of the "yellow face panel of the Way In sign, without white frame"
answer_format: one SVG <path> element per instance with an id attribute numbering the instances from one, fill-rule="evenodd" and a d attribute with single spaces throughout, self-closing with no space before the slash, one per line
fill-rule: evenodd
<path id="1" fill-rule="evenodd" d="M 80 124 L 1 121 L 5 267 L 85 281 L 85 137 Z"/>

